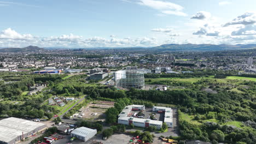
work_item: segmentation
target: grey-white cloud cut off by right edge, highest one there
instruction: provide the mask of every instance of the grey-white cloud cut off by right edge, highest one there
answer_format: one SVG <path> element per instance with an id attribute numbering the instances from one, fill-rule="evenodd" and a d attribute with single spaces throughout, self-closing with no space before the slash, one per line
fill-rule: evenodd
<path id="1" fill-rule="evenodd" d="M 226 23 L 224 26 L 230 25 L 252 25 L 256 23 L 256 13 L 255 12 L 248 12 L 237 16 L 234 20 Z"/>

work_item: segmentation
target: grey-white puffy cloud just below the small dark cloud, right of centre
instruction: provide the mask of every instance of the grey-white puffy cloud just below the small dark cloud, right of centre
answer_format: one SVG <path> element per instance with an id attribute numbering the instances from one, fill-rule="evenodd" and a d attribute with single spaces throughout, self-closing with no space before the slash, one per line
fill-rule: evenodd
<path id="1" fill-rule="evenodd" d="M 206 36 L 218 36 L 219 35 L 219 28 L 212 25 L 204 25 L 198 31 L 194 32 L 194 35 L 206 35 Z"/>

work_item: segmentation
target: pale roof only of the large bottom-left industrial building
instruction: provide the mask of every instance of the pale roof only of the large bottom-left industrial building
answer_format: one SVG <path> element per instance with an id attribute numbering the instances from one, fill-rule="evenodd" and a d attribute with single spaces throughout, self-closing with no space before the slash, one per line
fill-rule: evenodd
<path id="1" fill-rule="evenodd" d="M 20 119 L 20 118 L 15 118 L 15 117 L 9 117 L 9 118 L 2 119 L 0 121 L 0 125 L 3 127 L 6 127 L 6 128 L 22 130 L 24 132 L 25 131 L 31 132 L 43 125 L 45 125 L 45 127 L 46 127 L 46 124 L 43 124 L 43 123 L 28 121 L 25 119 Z"/>

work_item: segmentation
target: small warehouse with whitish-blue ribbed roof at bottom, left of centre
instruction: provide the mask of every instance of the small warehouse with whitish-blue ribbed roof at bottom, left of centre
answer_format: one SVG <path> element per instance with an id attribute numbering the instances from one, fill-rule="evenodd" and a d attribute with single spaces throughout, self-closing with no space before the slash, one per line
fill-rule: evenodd
<path id="1" fill-rule="evenodd" d="M 82 141 L 88 141 L 97 134 L 96 129 L 89 129 L 85 127 L 80 127 L 71 132 L 71 137 L 77 137 L 77 139 Z"/>

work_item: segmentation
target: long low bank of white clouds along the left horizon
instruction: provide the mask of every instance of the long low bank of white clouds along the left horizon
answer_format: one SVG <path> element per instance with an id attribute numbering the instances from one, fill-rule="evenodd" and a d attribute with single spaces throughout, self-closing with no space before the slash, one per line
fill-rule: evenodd
<path id="1" fill-rule="evenodd" d="M 128 47 L 128 46 L 156 46 L 155 38 L 116 38 L 102 37 L 83 38 L 80 35 L 67 34 L 51 37 L 35 37 L 31 34 L 20 34 L 11 28 L 0 33 L 0 47 L 25 47 L 37 45 L 40 47 Z"/>

